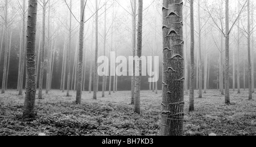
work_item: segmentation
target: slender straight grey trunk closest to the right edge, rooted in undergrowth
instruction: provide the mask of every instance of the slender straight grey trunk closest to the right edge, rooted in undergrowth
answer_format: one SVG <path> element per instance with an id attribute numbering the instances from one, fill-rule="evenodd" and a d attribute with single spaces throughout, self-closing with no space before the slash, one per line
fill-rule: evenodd
<path id="1" fill-rule="evenodd" d="M 249 100 L 252 100 L 253 99 L 253 96 L 252 96 L 252 91 L 251 91 L 251 29 L 250 29 L 250 0 L 248 0 L 247 1 L 247 24 L 248 24 L 248 31 L 247 31 L 247 33 L 248 33 L 248 36 L 247 36 L 247 47 L 248 47 L 248 75 L 249 75 Z"/>

